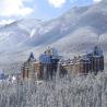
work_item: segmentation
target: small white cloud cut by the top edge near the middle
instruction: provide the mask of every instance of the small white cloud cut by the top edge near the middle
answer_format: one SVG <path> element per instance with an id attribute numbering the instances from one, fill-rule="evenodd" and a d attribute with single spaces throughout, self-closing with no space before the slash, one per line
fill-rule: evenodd
<path id="1" fill-rule="evenodd" d="M 48 2 L 55 8 L 61 8 L 67 0 L 48 0 Z"/>

